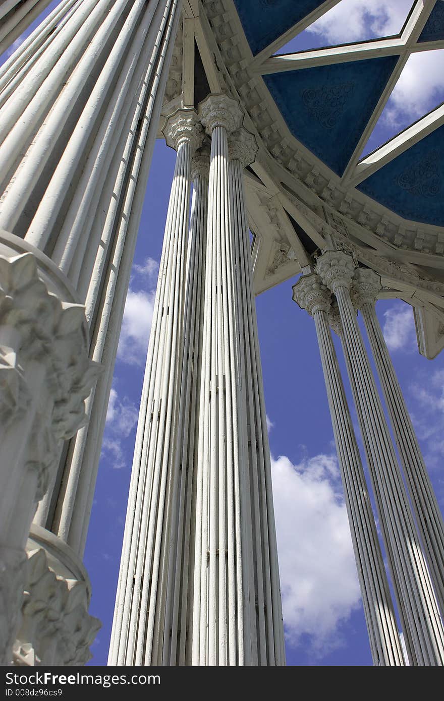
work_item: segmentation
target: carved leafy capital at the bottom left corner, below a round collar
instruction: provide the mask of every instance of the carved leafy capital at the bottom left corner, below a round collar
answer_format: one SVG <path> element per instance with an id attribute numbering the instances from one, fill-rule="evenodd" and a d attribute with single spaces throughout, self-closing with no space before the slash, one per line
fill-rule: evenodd
<path id="1" fill-rule="evenodd" d="M 88 614 L 84 582 L 56 576 L 43 549 L 29 552 L 15 665 L 84 665 L 100 621 Z M 23 591 L 23 589 L 22 589 Z"/>

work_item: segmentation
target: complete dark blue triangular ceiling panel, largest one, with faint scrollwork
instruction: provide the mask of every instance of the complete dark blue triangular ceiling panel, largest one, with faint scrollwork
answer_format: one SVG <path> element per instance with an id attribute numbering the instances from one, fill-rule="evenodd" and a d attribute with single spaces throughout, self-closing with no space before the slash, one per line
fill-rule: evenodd
<path id="1" fill-rule="evenodd" d="M 292 134 L 342 175 L 397 60 L 304 68 L 264 81 Z"/>

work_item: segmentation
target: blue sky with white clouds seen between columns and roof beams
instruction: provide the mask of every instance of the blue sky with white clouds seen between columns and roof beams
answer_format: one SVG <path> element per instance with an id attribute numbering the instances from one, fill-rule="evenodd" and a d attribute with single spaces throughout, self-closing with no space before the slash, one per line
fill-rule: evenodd
<path id="1" fill-rule="evenodd" d="M 410 0 L 390 4 L 342 0 L 285 50 L 393 34 L 401 29 L 410 6 Z M 443 60 L 438 52 L 433 54 L 412 57 L 415 62 L 410 59 L 365 151 L 443 100 Z M 174 161 L 175 152 L 157 142 L 86 546 L 85 563 L 93 586 L 90 612 L 103 623 L 92 647 L 91 664 L 95 665 L 107 661 L 144 357 Z M 288 664 L 371 665 L 316 333 L 309 315 L 292 301 L 296 279 L 257 297 Z M 419 355 L 410 306 L 398 300 L 379 301 L 377 312 L 444 510 L 440 468 L 444 357 L 430 362 Z M 343 364 L 342 369 L 345 377 Z M 355 415 L 354 421 L 356 424 Z"/>

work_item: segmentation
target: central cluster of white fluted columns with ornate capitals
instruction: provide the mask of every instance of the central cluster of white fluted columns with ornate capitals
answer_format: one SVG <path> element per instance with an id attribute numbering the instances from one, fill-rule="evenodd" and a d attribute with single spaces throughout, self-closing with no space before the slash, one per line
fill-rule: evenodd
<path id="1" fill-rule="evenodd" d="M 210 95 L 164 129 L 177 159 L 110 664 L 285 664 L 241 121 Z"/>

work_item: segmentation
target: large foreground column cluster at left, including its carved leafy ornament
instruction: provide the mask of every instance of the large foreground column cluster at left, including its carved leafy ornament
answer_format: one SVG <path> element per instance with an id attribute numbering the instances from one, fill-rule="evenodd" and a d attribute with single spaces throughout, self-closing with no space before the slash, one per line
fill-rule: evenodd
<path id="1" fill-rule="evenodd" d="M 7 0 L 0 39 L 2 18 L 20 28 L 25 8 L 46 4 Z M 0 67 L 1 414 L 22 417 L 4 423 L 0 447 L 5 664 L 20 625 L 38 660 L 48 624 L 20 624 L 30 526 L 57 576 L 89 587 L 81 559 L 180 9 L 61 0 Z"/>

